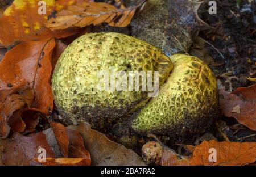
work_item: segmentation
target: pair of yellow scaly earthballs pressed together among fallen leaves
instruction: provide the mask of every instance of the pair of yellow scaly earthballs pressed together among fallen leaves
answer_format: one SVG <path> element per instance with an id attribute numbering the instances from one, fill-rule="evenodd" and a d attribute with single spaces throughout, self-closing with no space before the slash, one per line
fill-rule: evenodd
<path id="1" fill-rule="evenodd" d="M 159 71 L 159 95 L 98 90 L 101 71 Z M 88 33 L 73 41 L 56 64 L 52 90 L 65 123 L 83 120 L 102 131 L 126 121 L 142 134 L 197 133 L 218 113 L 217 83 L 207 64 L 184 54 L 169 58 L 159 48 L 115 32 Z"/>

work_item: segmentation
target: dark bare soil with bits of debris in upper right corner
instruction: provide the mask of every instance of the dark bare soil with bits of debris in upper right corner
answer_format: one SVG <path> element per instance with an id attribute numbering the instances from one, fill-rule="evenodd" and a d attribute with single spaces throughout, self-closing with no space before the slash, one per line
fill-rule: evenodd
<path id="1" fill-rule="evenodd" d="M 216 15 L 209 14 L 208 2 L 201 5 L 199 16 L 215 29 L 201 31 L 199 36 L 224 56 L 206 44 L 210 56 L 222 64 L 211 68 L 226 90 L 253 85 L 246 77 L 256 77 L 255 1 L 217 0 Z"/>

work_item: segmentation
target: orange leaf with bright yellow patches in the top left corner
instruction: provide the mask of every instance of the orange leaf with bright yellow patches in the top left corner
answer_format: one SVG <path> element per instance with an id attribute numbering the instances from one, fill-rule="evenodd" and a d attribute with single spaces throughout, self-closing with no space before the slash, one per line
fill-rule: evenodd
<path id="1" fill-rule="evenodd" d="M 88 0 L 84 0 L 88 1 Z M 39 14 L 38 0 L 14 0 L 0 18 L 0 43 L 5 46 L 16 44 L 18 41 L 30 41 L 46 39 L 48 37 L 63 38 L 71 36 L 77 29 L 64 31 L 51 31 L 44 26 L 48 15 L 54 16 L 55 11 L 67 8 L 81 0 L 48 0 L 46 2 L 46 14 Z M 17 18 L 19 17 L 19 18 Z"/>

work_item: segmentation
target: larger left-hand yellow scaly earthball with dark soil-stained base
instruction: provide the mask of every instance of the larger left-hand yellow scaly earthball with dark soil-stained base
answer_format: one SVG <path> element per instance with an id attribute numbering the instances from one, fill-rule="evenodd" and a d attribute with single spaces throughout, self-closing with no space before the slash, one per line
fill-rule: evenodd
<path id="1" fill-rule="evenodd" d="M 68 124 L 88 121 L 93 128 L 111 126 L 148 101 L 147 91 L 99 91 L 100 71 L 159 71 L 159 85 L 173 68 L 160 49 L 115 32 L 89 33 L 63 52 L 52 78 L 53 95 Z M 141 83 L 140 83 L 141 86 Z"/>

